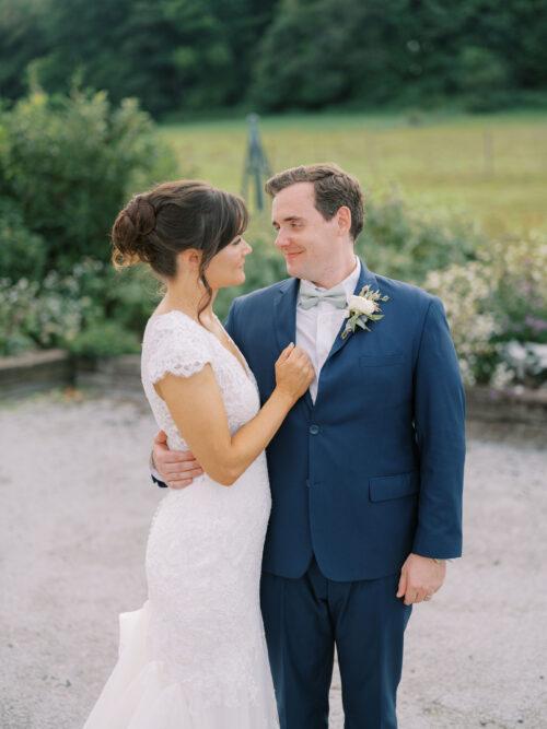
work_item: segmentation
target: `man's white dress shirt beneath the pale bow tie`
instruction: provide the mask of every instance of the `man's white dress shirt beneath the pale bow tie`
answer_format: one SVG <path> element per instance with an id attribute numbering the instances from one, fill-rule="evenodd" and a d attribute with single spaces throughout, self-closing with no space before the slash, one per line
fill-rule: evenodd
<path id="1" fill-rule="evenodd" d="M 356 268 L 353 271 L 347 279 L 337 284 L 337 287 L 344 287 L 348 298 L 356 291 L 360 273 L 361 261 L 359 258 L 356 258 Z M 311 281 L 301 281 L 300 285 L 301 287 L 303 285 L 306 286 L 310 291 L 326 291 L 326 289 L 316 286 Z M 324 301 L 310 309 L 304 309 L 302 306 L 296 305 L 295 344 L 307 352 L 315 369 L 315 379 L 310 385 L 310 395 L 313 402 L 315 402 L 315 398 L 317 397 L 321 369 L 328 357 L 328 353 L 342 326 L 345 316 L 346 309 L 338 309 Z"/>

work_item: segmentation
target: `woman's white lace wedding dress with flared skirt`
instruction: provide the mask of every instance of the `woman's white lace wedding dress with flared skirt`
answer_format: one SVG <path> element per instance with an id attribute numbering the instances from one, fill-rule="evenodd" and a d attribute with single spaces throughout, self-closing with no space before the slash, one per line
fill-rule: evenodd
<path id="1" fill-rule="evenodd" d="M 142 383 L 173 449 L 188 447 L 153 384 L 207 363 L 234 433 L 259 409 L 248 367 L 185 314 L 151 317 Z M 166 491 L 148 540 L 148 600 L 119 616 L 119 658 L 84 729 L 279 727 L 259 604 L 270 505 L 264 452 L 230 487 L 203 474 Z"/>

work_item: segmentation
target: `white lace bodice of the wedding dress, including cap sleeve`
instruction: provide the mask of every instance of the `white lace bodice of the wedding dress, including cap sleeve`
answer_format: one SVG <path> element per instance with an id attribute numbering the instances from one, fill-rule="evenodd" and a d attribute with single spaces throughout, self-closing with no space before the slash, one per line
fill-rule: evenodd
<path id="1" fill-rule="evenodd" d="M 244 369 L 238 358 L 212 332 L 183 311 L 173 310 L 150 318 L 142 343 L 142 385 L 158 425 L 167 434 L 170 448 L 187 450 L 188 446 L 153 385 L 168 373 L 189 377 L 208 363 L 222 392 L 230 432 L 234 433 L 254 418 L 260 407 L 251 369 L 246 365 Z"/>

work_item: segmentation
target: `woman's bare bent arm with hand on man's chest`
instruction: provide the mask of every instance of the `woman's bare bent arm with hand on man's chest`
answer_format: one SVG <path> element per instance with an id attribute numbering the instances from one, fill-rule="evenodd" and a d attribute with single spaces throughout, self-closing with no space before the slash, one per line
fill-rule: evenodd
<path id="1" fill-rule="evenodd" d="M 155 389 L 206 473 L 231 486 L 266 448 L 313 377 L 307 355 L 299 348 L 288 346 L 276 364 L 277 385 L 270 398 L 233 436 L 210 364 L 191 377 L 168 374 L 155 384 Z"/>

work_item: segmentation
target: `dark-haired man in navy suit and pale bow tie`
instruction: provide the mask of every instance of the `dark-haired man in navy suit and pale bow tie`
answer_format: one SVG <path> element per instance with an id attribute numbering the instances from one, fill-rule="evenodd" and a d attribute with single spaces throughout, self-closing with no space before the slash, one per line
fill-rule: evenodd
<path id="1" fill-rule="evenodd" d="M 328 726 L 336 645 L 346 729 L 394 729 L 411 605 L 462 550 L 464 392 L 439 298 L 354 256 L 359 183 L 334 164 L 266 185 L 291 278 L 236 298 L 226 329 L 264 402 L 291 341 L 316 378 L 267 449 L 272 510 L 261 609 L 282 729 Z M 342 337 L 348 301 L 380 291 L 383 318 Z M 387 297 L 387 298 L 385 298 Z M 369 307 L 363 298 L 353 305 Z M 174 487 L 199 473 L 161 438 Z"/>

